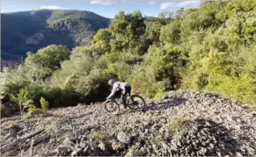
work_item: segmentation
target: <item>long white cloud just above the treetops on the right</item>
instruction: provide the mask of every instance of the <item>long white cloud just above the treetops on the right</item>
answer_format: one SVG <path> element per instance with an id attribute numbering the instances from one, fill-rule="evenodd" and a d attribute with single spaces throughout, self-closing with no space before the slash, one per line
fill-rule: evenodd
<path id="1" fill-rule="evenodd" d="M 170 2 L 170 3 L 163 3 L 160 6 L 161 10 L 178 10 L 180 8 L 196 8 L 200 5 L 199 0 L 192 0 L 192 1 L 183 1 L 183 2 Z"/>

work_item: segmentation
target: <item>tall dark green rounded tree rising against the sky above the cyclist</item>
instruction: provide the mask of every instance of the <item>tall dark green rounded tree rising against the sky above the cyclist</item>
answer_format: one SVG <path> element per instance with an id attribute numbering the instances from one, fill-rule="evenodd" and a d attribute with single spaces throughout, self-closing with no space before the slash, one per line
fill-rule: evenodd
<path id="1" fill-rule="evenodd" d="M 140 11 L 125 15 L 120 12 L 113 18 L 109 31 L 113 38 L 110 39 L 111 52 L 131 52 L 144 54 L 147 49 L 144 32 L 146 25 Z"/>

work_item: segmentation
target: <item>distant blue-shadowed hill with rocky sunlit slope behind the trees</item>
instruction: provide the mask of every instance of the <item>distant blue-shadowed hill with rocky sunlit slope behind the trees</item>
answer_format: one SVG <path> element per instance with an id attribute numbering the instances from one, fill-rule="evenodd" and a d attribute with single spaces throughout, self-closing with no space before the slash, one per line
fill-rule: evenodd
<path id="1" fill-rule="evenodd" d="M 1 14 L 1 52 L 4 60 L 18 60 L 51 44 L 68 46 L 88 43 L 109 18 L 91 11 L 38 10 Z"/>

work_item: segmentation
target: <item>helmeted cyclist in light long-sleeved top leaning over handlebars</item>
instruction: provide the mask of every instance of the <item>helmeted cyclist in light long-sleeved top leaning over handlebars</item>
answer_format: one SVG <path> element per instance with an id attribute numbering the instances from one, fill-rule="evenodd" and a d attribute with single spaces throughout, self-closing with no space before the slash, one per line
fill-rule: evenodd
<path id="1" fill-rule="evenodd" d="M 120 82 L 114 79 L 110 79 L 108 84 L 113 86 L 112 92 L 106 99 L 110 99 L 113 96 L 120 96 L 125 103 L 126 97 L 131 95 L 131 86 L 128 82 Z"/>

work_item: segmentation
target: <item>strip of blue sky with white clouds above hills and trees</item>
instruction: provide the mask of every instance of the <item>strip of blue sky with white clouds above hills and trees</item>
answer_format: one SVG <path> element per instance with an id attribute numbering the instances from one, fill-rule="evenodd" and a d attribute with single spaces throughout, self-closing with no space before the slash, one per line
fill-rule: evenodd
<path id="1" fill-rule="evenodd" d="M 33 11 L 39 9 L 92 11 L 113 18 L 119 11 L 141 11 L 157 17 L 162 11 L 196 8 L 200 0 L 1 0 L 1 12 Z"/>

